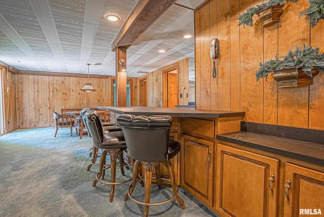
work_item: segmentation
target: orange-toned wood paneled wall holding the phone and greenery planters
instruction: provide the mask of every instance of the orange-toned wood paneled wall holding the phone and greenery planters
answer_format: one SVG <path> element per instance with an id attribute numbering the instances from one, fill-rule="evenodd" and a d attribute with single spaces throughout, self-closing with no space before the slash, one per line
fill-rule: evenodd
<path id="1" fill-rule="evenodd" d="M 255 80 L 259 62 L 283 56 L 296 46 L 324 51 L 324 20 L 310 28 L 307 17 L 298 15 L 307 0 L 285 3 L 281 21 L 262 26 L 255 15 L 254 26 L 237 26 L 237 17 L 262 0 L 211 0 L 195 10 L 196 108 L 245 111 L 246 120 L 294 127 L 324 129 L 324 73 L 314 84 L 277 88 L 272 73 L 267 81 Z M 217 78 L 212 77 L 209 45 L 220 41 Z"/>

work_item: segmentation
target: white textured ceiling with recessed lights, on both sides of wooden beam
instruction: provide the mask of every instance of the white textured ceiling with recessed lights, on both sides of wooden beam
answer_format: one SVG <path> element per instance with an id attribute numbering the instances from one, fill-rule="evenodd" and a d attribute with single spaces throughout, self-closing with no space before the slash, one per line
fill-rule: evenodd
<path id="1" fill-rule="evenodd" d="M 139 77 L 189 57 L 194 80 L 192 9 L 205 0 L 178 0 L 127 49 L 127 75 Z M 111 43 L 138 0 L 0 0 L 0 61 L 19 70 L 115 75 Z M 119 21 L 105 19 L 116 14 Z M 165 49 L 161 54 L 157 51 Z M 142 72 L 142 73 L 140 73 Z"/>

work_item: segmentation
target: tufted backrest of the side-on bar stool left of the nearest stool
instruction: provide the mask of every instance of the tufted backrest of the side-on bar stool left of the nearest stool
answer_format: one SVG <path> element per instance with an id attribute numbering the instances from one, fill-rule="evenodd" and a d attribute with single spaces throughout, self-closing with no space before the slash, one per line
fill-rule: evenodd
<path id="1" fill-rule="evenodd" d="M 103 140 L 103 131 L 99 115 L 96 111 L 89 111 L 84 114 L 85 123 L 88 126 L 93 144 L 96 148 L 100 148 Z"/>

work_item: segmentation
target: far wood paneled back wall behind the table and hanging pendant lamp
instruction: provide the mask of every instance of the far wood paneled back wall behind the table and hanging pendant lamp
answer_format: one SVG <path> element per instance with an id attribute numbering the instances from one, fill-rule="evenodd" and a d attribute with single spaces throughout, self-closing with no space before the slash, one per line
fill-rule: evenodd
<path id="1" fill-rule="evenodd" d="M 4 71 L 4 70 L 2 70 Z M 7 78 L 4 75 L 4 78 Z M 13 113 L 12 121 L 6 132 L 17 128 L 33 128 L 54 126 L 53 113 L 60 113 L 61 108 L 110 106 L 112 97 L 111 79 L 90 78 L 90 83 L 96 92 L 84 92 L 80 89 L 88 81 L 87 78 L 21 75 L 9 72 L 9 86 L 11 103 L 9 117 Z M 132 105 L 137 105 L 137 78 L 132 79 Z M 7 85 L 7 80 L 4 84 Z M 88 82 L 87 82 L 88 83 Z M 7 93 L 4 86 L 4 107 L 7 111 Z M 7 113 L 6 113 L 7 114 Z"/>

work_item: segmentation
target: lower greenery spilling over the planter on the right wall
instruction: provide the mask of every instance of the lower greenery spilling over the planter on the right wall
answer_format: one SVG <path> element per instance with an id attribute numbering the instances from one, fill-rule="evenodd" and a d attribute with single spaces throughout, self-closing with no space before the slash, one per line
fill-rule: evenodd
<path id="1" fill-rule="evenodd" d="M 306 47 L 303 48 L 296 46 L 295 51 L 289 50 L 288 54 L 284 57 L 275 55 L 275 60 L 269 60 L 265 63 L 260 62 L 260 68 L 256 70 L 256 80 L 266 78 L 271 71 L 276 69 L 284 69 L 290 67 L 302 67 L 303 71 L 309 77 L 312 76 L 312 68 L 316 67 L 319 71 L 324 71 L 324 53 L 319 54 L 319 48 Z"/>

